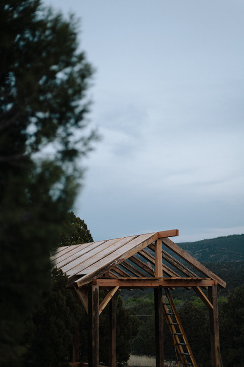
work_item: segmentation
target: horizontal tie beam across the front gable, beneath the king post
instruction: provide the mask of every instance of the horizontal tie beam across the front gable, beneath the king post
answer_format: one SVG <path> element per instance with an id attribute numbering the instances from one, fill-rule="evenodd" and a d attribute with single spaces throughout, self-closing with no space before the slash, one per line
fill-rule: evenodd
<path id="1" fill-rule="evenodd" d="M 157 288 L 157 287 L 211 287 L 215 280 L 209 278 L 110 278 L 96 279 L 96 283 L 103 289 L 120 288 Z"/>

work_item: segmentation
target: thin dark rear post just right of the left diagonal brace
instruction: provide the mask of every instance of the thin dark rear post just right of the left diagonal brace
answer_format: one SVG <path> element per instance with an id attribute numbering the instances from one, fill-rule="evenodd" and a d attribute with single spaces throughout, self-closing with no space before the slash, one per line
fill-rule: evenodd
<path id="1" fill-rule="evenodd" d="M 116 367 L 116 296 L 109 302 L 109 354 L 108 366 Z"/>

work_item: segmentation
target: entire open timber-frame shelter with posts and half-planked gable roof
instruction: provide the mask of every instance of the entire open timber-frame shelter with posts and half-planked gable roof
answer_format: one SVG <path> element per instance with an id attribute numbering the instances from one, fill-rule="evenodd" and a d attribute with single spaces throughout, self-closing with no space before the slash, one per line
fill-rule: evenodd
<path id="1" fill-rule="evenodd" d="M 112 240 L 60 247 L 53 265 L 69 278 L 89 318 L 88 366 L 99 366 L 99 315 L 109 304 L 109 367 L 116 367 L 116 300 L 119 289 L 153 288 L 156 367 L 163 367 L 163 316 L 184 367 L 197 367 L 170 295 L 176 287 L 192 288 L 209 310 L 212 367 L 221 367 L 217 287 L 225 282 L 168 237 L 178 229 Z M 177 258 L 169 252 L 177 255 Z M 180 257 L 181 261 L 178 260 Z M 183 261 L 182 261 L 183 260 Z M 189 269 L 188 263 L 194 272 Z M 169 265 L 169 266 L 168 266 Z M 173 270 L 175 269 L 175 270 Z M 197 271 L 198 274 L 195 274 Z M 99 290 L 107 295 L 99 304 Z M 208 296 L 203 290 L 208 290 Z M 74 343 L 73 366 L 79 366 L 79 344 Z"/>

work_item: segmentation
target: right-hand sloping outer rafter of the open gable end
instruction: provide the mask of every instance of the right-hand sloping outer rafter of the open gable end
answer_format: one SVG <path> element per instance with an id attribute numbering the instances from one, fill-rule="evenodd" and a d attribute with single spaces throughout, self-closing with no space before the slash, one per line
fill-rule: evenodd
<path id="1" fill-rule="evenodd" d="M 171 251 L 173 251 L 174 253 L 176 253 L 177 255 L 179 255 L 183 260 L 185 260 L 186 262 L 188 262 L 188 264 L 192 265 L 199 272 L 201 272 L 205 276 L 209 276 L 211 279 L 217 280 L 218 281 L 218 284 L 222 288 L 225 288 L 226 287 L 226 283 L 224 282 L 224 280 L 222 280 L 217 275 L 215 275 L 214 273 L 212 273 L 209 269 L 207 269 L 205 266 L 203 266 L 194 257 L 192 257 L 191 255 L 189 255 L 189 253 L 187 253 L 186 251 L 184 251 L 183 249 L 181 249 L 178 245 L 176 245 L 176 243 L 174 243 L 173 241 L 171 241 L 169 238 L 163 238 L 162 239 L 162 242 L 163 242 L 163 244 L 168 249 L 170 249 Z"/>

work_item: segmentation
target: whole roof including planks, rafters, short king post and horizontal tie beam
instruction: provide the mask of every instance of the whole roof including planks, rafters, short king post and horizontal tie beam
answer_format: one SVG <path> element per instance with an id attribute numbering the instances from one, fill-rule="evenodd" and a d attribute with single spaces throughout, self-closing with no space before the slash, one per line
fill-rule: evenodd
<path id="1" fill-rule="evenodd" d="M 207 287 L 213 284 L 224 288 L 226 284 L 221 278 L 168 238 L 178 233 L 178 229 L 173 229 L 64 246 L 57 249 L 51 260 L 76 288 L 94 280 L 106 289 L 117 286 Z M 196 275 L 185 262 L 201 275 Z"/>

